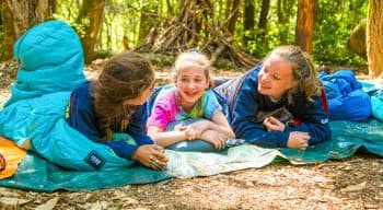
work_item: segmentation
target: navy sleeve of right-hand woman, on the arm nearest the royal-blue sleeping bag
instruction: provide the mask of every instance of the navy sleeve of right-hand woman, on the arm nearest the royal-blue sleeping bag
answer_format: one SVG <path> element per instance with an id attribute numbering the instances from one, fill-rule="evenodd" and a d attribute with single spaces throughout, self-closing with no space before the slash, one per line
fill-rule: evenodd
<path id="1" fill-rule="evenodd" d="M 290 131 L 309 132 L 309 144 L 321 143 L 332 138 L 328 116 L 322 106 L 322 98 L 315 96 L 314 100 L 313 103 L 306 103 L 304 108 L 300 108 L 301 125 L 289 128 Z"/>

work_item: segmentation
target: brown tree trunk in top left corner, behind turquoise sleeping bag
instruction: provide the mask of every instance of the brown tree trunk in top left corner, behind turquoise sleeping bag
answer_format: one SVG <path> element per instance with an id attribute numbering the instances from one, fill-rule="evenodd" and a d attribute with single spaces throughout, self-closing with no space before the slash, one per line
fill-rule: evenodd
<path id="1" fill-rule="evenodd" d="M 13 44 L 33 25 L 48 20 L 56 10 L 55 0 L 1 0 L 3 39 L 1 60 L 13 57 Z"/>

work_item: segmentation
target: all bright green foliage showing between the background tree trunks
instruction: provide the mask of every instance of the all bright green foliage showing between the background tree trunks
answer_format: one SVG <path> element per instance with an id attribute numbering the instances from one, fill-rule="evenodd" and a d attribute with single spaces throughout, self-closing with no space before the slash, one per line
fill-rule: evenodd
<path id="1" fill-rule="evenodd" d="M 127 36 L 130 48 L 139 45 L 144 39 L 144 33 L 165 18 L 178 15 L 182 0 L 106 0 L 103 23 L 98 35 L 96 50 L 119 51 L 123 50 L 123 37 Z M 211 25 L 225 21 L 228 0 L 208 1 L 212 7 L 213 15 L 208 15 Z M 270 11 L 267 18 L 267 33 L 263 37 L 257 28 L 262 0 L 254 0 L 255 27 L 245 31 L 242 13 L 244 5 L 240 8 L 240 15 L 233 36 L 234 46 L 252 54 L 260 59 L 268 51 L 279 45 L 294 44 L 297 24 L 297 1 L 280 1 L 281 10 L 278 13 L 279 1 L 271 0 Z M 67 21 L 81 35 L 89 20 L 76 23 L 82 1 L 57 0 L 57 14 L 55 19 Z M 313 57 L 316 62 L 335 62 L 347 65 L 360 65 L 365 61 L 349 51 L 347 38 L 351 30 L 367 18 L 367 0 L 317 0 L 315 7 Z M 141 16 L 144 15 L 144 16 Z M 218 25 L 219 26 L 219 25 Z M 0 39 L 3 32 L 0 28 Z M 211 34 L 200 31 L 202 38 L 199 42 L 211 39 Z M 245 37 L 245 38 L 244 38 Z M 0 46 L 1 50 L 1 46 Z"/>

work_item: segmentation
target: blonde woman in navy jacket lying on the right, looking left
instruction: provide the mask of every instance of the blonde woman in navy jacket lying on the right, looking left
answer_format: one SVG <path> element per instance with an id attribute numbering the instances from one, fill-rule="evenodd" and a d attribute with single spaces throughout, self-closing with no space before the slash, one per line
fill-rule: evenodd
<path id="1" fill-rule="evenodd" d="M 262 65 L 216 91 L 229 102 L 236 138 L 246 142 L 305 150 L 330 138 L 326 96 L 311 57 L 298 46 L 277 47 Z M 282 115 L 267 114 L 277 109 Z"/>

